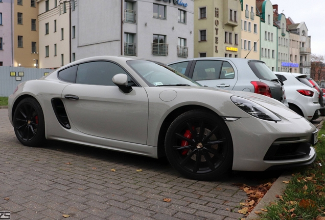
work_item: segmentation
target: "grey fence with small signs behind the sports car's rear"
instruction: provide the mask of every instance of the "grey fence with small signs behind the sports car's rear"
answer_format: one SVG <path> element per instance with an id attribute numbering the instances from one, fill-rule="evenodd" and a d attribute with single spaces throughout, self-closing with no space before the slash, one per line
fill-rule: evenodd
<path id="1" fill-rule="evenodd" d="M 0 96 L 8 97 L 23 81 L 39 79 L 52 69 L 0 66 Z"/>

